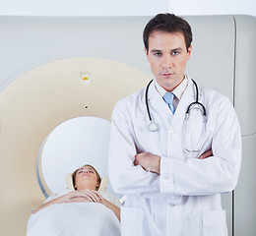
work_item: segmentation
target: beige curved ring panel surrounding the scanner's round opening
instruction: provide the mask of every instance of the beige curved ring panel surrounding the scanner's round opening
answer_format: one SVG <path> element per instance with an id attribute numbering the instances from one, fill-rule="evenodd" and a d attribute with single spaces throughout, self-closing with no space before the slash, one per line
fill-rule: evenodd
<path id="1" fill-rule="evenodd" d="M 31 209 L 44 201 L 36 156 L 45 137 L 74 117 L 110 120 L 115 102 L 150 79 L 117 61 L 76 57 L 38 66 L 0 92 L 1 235 L 26 235 Z"/>

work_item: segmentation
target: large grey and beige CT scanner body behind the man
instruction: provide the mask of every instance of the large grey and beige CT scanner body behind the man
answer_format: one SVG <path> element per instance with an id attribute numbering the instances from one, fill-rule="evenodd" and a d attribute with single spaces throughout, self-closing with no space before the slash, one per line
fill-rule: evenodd
<path id="1" fill-rule="evenodd" d="M 36 157 L 54 128 L 76 117 L 109 121 L 118 99 L 147 85 L 150 18 L 0 17 L 0 235 L 26 235 L 31 209 L 45 200 Z M 187 73 L 226 94 L 241 125 L 240 178 L 223 196 L 229 235 L 255 235 L 256 19 L 185 19 L 194 33 Z"/>

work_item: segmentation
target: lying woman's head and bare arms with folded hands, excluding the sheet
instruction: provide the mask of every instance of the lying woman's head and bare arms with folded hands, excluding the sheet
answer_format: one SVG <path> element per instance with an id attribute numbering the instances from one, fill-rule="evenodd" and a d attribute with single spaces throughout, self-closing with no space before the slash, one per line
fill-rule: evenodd
<path id="1" fill-rule="evenodd" d="M 75 191 L 71 191 L 51 201 L 46 201 L 40 207 L 32 210 L 32 213 L 36 213 L 42 208 L 56 204 L 93 202 L 108 207 L 120 220 L 120 208 L 102 198 L 101 194 L 97 191 L 101 182 L 101 178 L 95 167 L 87 164 L 76 169 L 72 174 L 72 181 Z"/>

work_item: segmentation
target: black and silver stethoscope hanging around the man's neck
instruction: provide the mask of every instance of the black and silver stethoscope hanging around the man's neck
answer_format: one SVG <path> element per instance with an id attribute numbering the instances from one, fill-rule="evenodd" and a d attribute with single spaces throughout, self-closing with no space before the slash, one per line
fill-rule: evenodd
<path id="1" fill-rule="evenodd" d="M 148 116 L 149 116 L 149 119 L 150 119 L 150 124 L 149 124 L 149 128 L 150 128 L 150 131 L 151 132 L 156 132 L 159 130 L 159 127 L 157 125 L 157 123 L 152 119 L 152 116 L 151 116 L 151 112 L 150 112 L 150 106 L 149 106 L 149 99 L 148 99 L 148 93 L 149 93 L 149 88 L 150 88 L 150 85 L 152 84 L 153 80 L 150 81 L 150 83 L 148 84 L 147 88 L 146 88 L 146 94 L 145 94 L 145 99 L 146 99 L 146 107 L 147 107 L 147 112 L 148 112 Z M 195 101 L 193 101 L 192 103 L 190 103 L 187 107 L 187 110 L 186 110 L 186 113 L 185 113 L 185 119 L 184 119 L 184 124 L 183 124 L 183 135 L 182 135 L 182 139 L 183 139 L 183 145 L 184 145 L 184 149 L 186 149 L 187 151 L 192 151 L 192 152 L 198 152 L 201 150 L 202 148 L 202 145 L 203 145 L 203 137 L 204 137 L 204 134 L 206 132 L 206 120 L 207 120 L 207 117 L 206 117 L 206 108 L 205 106 L 200 103 L 198 101 L 198 97 L 199 97 L 199 90 L 198 90 L 198 86 L 196 84 L 196 82 L 194 80 L 192 80 L 193 84 L 194 84 L 194 87 L 196 89 L 196 99 Z M 193 143 L 196 143 L 198 147 L 191 147 L 191 142 L 189 143 L 188 142 L 188 136 L 187 136 L 187 127 L 188 127 L 188 121 L 189 121 L 189 117 L 190 117 L 190 113 L 191 113 L 191 110 L 197 110 L 199 111 L 199 113 L 201 114 L 201 117 L 202 117 L 202 128 L 201 128 L 201 134 L 197 135 L 198 137 L 200 137 L 201 141 L 194 141 Z"/>

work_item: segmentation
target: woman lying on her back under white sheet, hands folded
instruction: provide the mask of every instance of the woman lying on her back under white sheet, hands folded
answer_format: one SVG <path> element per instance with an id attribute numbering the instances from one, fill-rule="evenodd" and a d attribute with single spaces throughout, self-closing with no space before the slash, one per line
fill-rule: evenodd
<path id="1" fill-rule="evenodd" d="M 97 191 L 101 179 L 96 169 L 84 165 L 73 172 L 72 180 L 75 191 L 51 196 L 32 211 L 27 235 L 119 236 L 119 200 Z"/>

